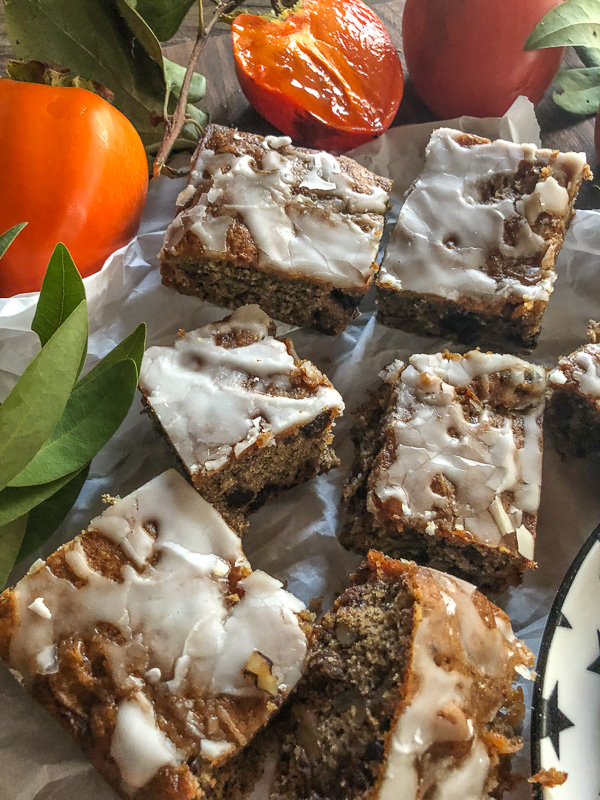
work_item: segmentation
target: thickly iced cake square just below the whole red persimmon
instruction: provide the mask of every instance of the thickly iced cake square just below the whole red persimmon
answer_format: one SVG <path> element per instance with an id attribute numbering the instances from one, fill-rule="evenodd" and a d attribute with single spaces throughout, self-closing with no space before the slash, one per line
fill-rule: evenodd
<path id="1" fill-rule="evenodd" d="M 440 128 L 377 276 L 379 319 L 468 344 L 532 349 L 584 153 Z"/>

